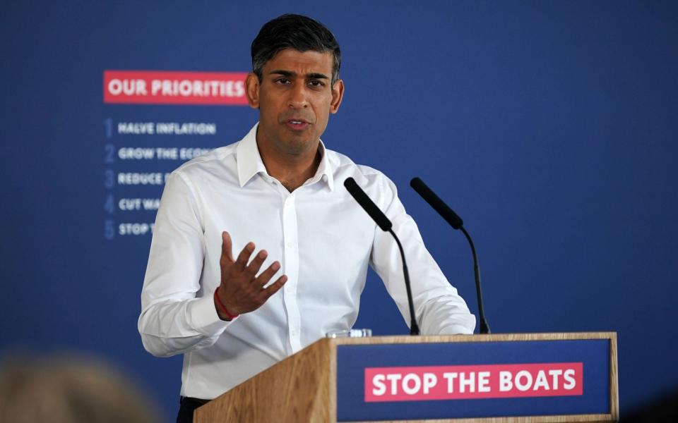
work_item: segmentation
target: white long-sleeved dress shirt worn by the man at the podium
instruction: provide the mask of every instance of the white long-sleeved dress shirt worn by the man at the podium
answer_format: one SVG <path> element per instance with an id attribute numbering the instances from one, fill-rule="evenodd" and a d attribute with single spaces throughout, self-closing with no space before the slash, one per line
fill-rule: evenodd
<path id="1" fill-rule="evenodd" d="M 288 192 L 266 172 L 256 128 L 172 172 L 157 211 L 138 329 L 151 354 L 184 354 L 182 396 L 215 398 L 328 331 L 350 329 L 368 264 L 409 323 L 398 246 L 345 190 L 349 176 L 393 221 L 422 333 L 472 333 L 475 317 L 424 247 L 391 180 L 321 142 L 316 175 Z M 280 262 L 272 281 L 288 278 L 263 306 L 230 322 L 213 302 L 222 231 L 233 257 L 252 241 L 268 251 L 261 269 Z"/>

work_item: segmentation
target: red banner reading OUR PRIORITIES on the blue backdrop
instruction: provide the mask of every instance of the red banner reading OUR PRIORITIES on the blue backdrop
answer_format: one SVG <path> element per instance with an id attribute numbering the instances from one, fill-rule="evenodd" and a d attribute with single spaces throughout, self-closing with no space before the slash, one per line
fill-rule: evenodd
<path id="1" fill-rule="evenodd" d="M 104 102 L 246 105 L 246 72 L 104 71 Z"/>

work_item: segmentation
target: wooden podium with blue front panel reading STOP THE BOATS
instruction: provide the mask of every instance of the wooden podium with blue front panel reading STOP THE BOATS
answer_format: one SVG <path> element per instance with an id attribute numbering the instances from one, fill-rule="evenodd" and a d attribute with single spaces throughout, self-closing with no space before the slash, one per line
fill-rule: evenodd
<path id="1" fill-rule="evenodd" d="M 616 333 L 520 333 L 321 339 L 198 408 L 195 422 L 613 422 L 618 415 Z"/>

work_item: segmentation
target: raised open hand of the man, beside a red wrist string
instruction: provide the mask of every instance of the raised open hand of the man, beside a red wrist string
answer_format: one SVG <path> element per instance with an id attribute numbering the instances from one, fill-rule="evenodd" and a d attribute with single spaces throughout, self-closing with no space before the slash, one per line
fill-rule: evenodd
<path id="1" fill-rule="evenodd" d="M 258 274 L 263 261 L 268 256 L 266 250 L 259 251 L 250 262 L 249 258 L 254 252 L 255 245 L 248 243 L 242 249 L 238 258 L 234 260 L 231 236 L 227 232 L 222 232 L 221 238 L 221 258 L 219 260 L 221 284 L 217 293 L 218 300 L 221 301 L 228 313 L 234 316 L 252 312 L 261 307 L 280 288 L 283 288 L 283 285 L 287 282 L 287 276 L 280 276 L 274 283 L 264 288 L 270 278 L 273 278 L 273 275 L 280 270 L 280 263 L 273 262 L 266 270 Z M 218 304 L 215 304 L 215 307 L 221 319 L 230 320 Z"/>

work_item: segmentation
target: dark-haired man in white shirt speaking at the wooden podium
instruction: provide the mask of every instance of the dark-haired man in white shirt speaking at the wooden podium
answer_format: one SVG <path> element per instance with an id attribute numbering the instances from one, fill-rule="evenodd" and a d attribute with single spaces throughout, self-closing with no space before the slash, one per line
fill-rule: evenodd
<path id="1" fill-rule="evenodd" d="M 258 124 L 172 173 L 150 247 L 139 332 L 153 355 L 184 354 L 180 418 L 327 332 L 350 329 L 368 264 L 409 323 L 398 247 L 343 188 L 348 177 L 403 240 L 422 333 L 475 327 L 391 180 L 320 140 L 344 94 L 331 32 L 280 16 L 251 51 L 246 95 Z"/>

